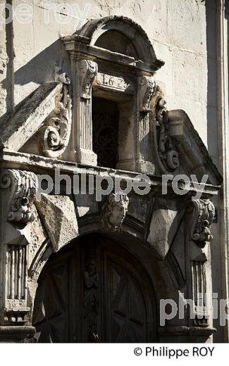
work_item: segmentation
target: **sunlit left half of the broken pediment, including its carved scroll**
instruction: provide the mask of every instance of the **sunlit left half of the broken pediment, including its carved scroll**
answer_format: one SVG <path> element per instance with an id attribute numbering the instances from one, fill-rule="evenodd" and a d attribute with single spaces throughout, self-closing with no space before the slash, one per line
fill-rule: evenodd
<path id="1" fill-rule="evenodd" d="M 61 75 L 58 75 L 61 80 Z M 65 80 L 64 80 L 65 79 Z M 70 137 L 71 103 L 68 79 L 45 82 L 20 103 L 13 116 L 2 123 L 3 149 L 56 158 Z"/>

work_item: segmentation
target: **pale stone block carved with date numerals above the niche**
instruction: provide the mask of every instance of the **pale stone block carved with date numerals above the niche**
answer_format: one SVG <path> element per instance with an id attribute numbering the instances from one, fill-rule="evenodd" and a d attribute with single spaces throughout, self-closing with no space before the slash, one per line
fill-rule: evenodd
<path id="1" fill-rule="evenodd" d="M 120 92 L 128 94 L 133 94 L 135 92 L 134 85 L 130 80 L 124 79 L 123 77 L 104 74 L 102 72 L 98 72 L 97 74 L 97 85 L 118 89 Z"/>

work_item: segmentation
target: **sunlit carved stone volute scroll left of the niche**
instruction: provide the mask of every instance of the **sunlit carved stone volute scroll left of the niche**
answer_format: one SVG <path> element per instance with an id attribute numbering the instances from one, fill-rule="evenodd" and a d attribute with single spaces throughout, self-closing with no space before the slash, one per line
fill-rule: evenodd
<path id="1" fill-rule="evenodd" d="M 61 82 L 62 88 L 56 94 L 54 111 L 41 130 L 42 153 L 49 158 L 57 158 L 66 150 L 71 127 L 71 99 L 68 90 L 70 78 L 63 72 L 56 74 L 55 79 Z"/>

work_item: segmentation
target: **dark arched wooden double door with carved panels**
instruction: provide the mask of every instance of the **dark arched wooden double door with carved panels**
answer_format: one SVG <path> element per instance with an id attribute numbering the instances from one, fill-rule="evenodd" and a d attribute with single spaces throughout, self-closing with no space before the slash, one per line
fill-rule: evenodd
<path id="1" fill-rule="evenodd" d="M 154 314 L 154 293 L 138 260 L 90 235 L 49 259 L 33 325 L 39 342 L 146 342 L 156 341 Z"/>

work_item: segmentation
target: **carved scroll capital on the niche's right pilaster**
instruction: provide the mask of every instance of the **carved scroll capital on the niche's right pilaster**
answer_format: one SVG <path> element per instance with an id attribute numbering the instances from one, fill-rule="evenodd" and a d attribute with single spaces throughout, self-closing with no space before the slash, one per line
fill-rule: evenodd
<path id="1" fill-rule="evenodd" d="M 156 88 L 156 82 L 152 76 L 142 76 L 140 79 L 140 111 L 149 112 L 150 99 L 154 94 Z"/>

